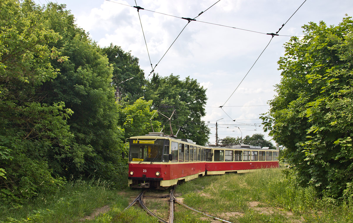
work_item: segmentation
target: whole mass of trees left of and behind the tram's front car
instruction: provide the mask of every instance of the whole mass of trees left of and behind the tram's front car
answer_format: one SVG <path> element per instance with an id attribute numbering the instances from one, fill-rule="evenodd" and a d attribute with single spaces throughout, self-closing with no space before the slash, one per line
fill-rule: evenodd
<path id="1" fill-rule="evenodd" d="M 160 104 L 178 109 L 178 136 L 207 142 L 207 98 L 196 80 L 145 80 L 138 58 L 112 44 L 101 49 L 65 5 L 3 0 L 0 8 L 1 202 L 23 203 L 69 178 L 124 185 L 123 140 L 150 132 Z M 116 102 L 118 84 L 131 77 Z M 160 131 L 157 119 L 152 125 Z"/>

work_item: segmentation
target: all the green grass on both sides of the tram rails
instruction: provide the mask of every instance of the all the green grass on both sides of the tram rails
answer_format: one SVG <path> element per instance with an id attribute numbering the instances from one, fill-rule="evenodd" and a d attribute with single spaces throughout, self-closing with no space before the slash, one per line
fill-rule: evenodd
<path id="1" fill-rule="evenodd" d="M 352 204 L 334 205 L 329 198 L 319 198 L 311 187 L 295 184 L 295 176 L 285 176 L 280 169 L 253 173 L 204 176 L 178 185 L 177 198 L 197 210 L 234 223 L 347 223 L 353 222 Z M 101 182 L 78 181 L 51 196 L 38 197 L 20 209 L 0 207 L 1 222 L 82 222 L 96 207 L 110 210 L 85 223 L 158 222 L 138 205 L 126 210 L 130 196 L 140 190 L 108 190 Z M 168 191 L 149 191 L 161 196 Z M 168 219 L 167 200 L 145 199 L 146 206 Z M 175 204 L 174 222 L 207 223 L 212 219 Z"/>

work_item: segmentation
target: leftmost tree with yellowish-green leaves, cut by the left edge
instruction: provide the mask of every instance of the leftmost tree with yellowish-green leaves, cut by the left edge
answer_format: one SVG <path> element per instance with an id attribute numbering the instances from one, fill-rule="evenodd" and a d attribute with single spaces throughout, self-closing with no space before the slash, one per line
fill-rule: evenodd
<path id="1" fill-rule="evenodd" d="M 62 37 L 47 29 L 42 8 L 31 1 L 0 2 L 0 200 L 24 202 L 63 184 L 47 158 L 70 153 L 72 111 L 62 101 L 43 103 L 38 89 L 67 58 L 53 47 Z"/>

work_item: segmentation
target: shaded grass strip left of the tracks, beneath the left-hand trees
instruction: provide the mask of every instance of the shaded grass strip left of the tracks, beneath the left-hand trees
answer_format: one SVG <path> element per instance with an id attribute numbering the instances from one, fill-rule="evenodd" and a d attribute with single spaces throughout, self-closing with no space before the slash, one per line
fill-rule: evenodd
<path id="1" fill-rule="evenodd" d="M 63 190 L 38 195 L 35 200 L 17 208 L 0 206 L 0 222 L 79 222 L 95 208 L 112 203 L 125 205 L 128 199 L 109 190 L 106 182 L 67 182 Z"/>

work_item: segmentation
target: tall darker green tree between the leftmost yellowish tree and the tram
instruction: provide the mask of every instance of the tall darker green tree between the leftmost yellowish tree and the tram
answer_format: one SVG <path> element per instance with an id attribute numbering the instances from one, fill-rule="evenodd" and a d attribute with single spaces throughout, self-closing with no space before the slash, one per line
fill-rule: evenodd
<path id="1" fill-rule="evenodd" d="M 70 151 L 77 154 L 75 159 L 53 159 L 50 165 L 60 175 L 100 177 L 118 183 L 124 132 L 118 126 L 113 67 L 96 43 L 74 24 L 64 5 L 51 3 L 44 14 L 48 29 L 62 36 L 53 47 L 68 59 L 52 62 L 60 73 L 42 86 L 43 100 L 64 101 L 73 111 L 67 122 L 74 135 Z M 53 154 L 53 158 L 57 156 Z"/>

